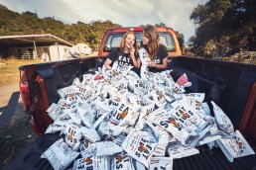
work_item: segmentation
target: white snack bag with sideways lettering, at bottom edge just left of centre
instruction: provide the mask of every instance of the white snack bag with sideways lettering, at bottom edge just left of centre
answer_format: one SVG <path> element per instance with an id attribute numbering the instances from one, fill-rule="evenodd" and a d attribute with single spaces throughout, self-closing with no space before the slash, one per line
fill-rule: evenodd
<path id="1" fill-rule="evenodd" d="M 122 151 L 112 157 L 111 170 L 133 170 L 131 157 L 127 152 Z"/>

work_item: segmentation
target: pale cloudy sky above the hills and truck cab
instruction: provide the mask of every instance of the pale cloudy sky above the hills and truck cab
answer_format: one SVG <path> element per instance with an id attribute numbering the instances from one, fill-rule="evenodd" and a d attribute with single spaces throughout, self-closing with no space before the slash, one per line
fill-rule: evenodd
<path id="1" fill-rule="evenodd" d="M 155 25 L 184 34 L 185 41 L 194 35 L 190 16 L 198 4 L 207 0 L 0 0 L 8 9 L 22 13 L 37 12 L 40 18 L 55 17 L 65 24 L 110 20 L 123 27 Z"/>

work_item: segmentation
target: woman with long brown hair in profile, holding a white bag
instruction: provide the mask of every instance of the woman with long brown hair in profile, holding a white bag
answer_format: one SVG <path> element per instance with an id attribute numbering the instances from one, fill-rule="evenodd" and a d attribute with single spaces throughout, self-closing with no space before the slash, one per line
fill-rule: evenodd
<path id="1" fill-rule="evenodd" d="M 142 61 L 141 71 L 160 72 L 168 67 L 168 51 L 160 43 L 159 34 L 155 27 L 147 26 L 143 29 L 139 56 Z"/>

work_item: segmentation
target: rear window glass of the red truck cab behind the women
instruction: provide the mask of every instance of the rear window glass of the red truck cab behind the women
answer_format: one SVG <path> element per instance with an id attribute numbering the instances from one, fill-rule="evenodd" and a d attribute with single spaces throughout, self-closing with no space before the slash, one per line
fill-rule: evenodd
<path id="1" fill-rule="evenodd" d="M 125 33 L 117 33 L 117 34 L 109 35 L 106 39 L 104 49 L 110 50 L 112 47 L 119 47 L 124 34 Z M 139 45 L 141 42 L 142 32 L 135 33 L 135 35 L 136 35 L 136 42 Z M 176 50 L 174 38 L 170 33 L 161 32 L 159 33 L 159 37 L 160 37 L 160 42 L 162 44 L 165 44 L 169 51 Z"/>

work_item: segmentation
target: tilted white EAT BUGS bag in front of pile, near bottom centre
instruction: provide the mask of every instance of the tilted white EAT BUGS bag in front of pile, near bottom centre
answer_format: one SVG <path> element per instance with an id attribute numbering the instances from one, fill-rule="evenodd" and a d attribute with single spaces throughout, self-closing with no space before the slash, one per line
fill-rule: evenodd
<path id="1" fill-rule="evenodd" d="M 155 138 L 146 131 L 132 128 L 122 143 L 122 148 L 134 159 L 149 167 L 149 157 L 156 146 Z"/>

